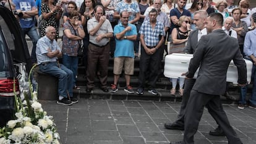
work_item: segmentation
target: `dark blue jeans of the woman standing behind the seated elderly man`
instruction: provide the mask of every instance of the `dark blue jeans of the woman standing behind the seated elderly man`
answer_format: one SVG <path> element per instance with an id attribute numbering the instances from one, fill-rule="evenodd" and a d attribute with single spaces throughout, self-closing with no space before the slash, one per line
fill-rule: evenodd
<path id="1" fill-rule="evenodd" d="M 67 56 L 65 54 L 62 55 L 62 64 L 66 66 L 68 69 L 73 72 L 73 82 L 72 85 L 75 87 L 75 77 L 77 75 L 77 67 L 78 67 L 79 58 L 77 56 Z"/>

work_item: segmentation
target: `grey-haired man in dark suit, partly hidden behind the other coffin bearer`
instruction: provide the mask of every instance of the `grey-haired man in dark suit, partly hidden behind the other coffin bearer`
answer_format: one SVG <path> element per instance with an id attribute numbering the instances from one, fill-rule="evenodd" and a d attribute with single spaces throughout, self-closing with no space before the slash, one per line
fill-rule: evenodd
<path id="1" fill-rule="evenodd" d="M 187 40 L 187 46 L 184 49 L 185 53 L 193 54 L 197 48 L 197 43 L 201 36 L 207 35 L 207 29 L 205 28 L 208 13 L 204 10 L 196 11 L 194 13 L 194 24 L 197 30 L 193 30 L 189 34 L 189 39 Z M 166 129 L 177 129 L 184 130 L 184 116 L 187 106 L 187 101 L 189 101 L 190 91 L 194 86 L 195 79 L 186 79 L 184 85 L 184 93 L 182 96 L 181 109 L 179 110 L 179 115 L 177 116 L 177 121 L 173 123 L 166 123 L 164 127 Z"/>

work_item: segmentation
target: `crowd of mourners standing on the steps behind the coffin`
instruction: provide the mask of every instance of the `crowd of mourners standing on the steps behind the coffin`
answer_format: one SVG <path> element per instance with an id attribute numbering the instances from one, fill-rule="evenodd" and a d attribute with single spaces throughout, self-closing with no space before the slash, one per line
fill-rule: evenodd
<path id="1" fill-rule="evenodd" d="M 197 41 L 201 36 L 207 35 L 206 18 L 203 17 L 205 14 L 223 15 L 224 32 L 236 38 L 245 59 L 251 61 L 255 59 L 252 57 L 256 53 L 255 45 L 251 40 L 254 38 L 253 14 L 256 12 L 256 7 L 249 9 L 250 3 L 247 0 L 240 0 L 237 6 L 234 0 L 221 0 L 216 3 L 210 0 L 192 0 L 190 3 L 187 0 L 177 0 L 175 4 L 173 0 L 10 0 L 1 1 L 1 4 L 15 12 L 23 35 L 28 35 L 32 40 L 33 63 L 41 64 L 38 61 L 40 57 L 38 49 L 42 44 L 38 44 L 38 40 L 47 37 L 46 30 L 51 29 L 48 27 L 51 26 L 56 30 L 54 40 L 58 40 L 59 27 L 64 28 L 62 48 L 59 49 L 59 53 L 62 64 L 72 71 L 70 83 L 74 89 L 79 89 L 75 85 L 79 65 L 77 52 L 83 44 L 82 63 L 86 69 L 88 93 L 95 87 L 95 76 L 100 79 L 101 90 L 109 91 L 106 83 L 109 54 L 114 57 L 114 82 L 110 91 L 113 93 L 118 91 L 119 75 L 124 67 L 126 78 L 124 90 L 135 93 L 130 85 L 130 75 L 134 74 L 134 59 L 139 56 L 141 46 L 139 88 L 136 93 L 143 94 L 147 81 L 148 91 L 158 95 L 155 88 L 158 76 L 161 74 L 164 51 L 166 54 L 193 54 Z M 247 35 L 249 31 L 251 32 Z M 172 49 L 169 51 L 166 46 L 167 41 L 172 44 Z M 52 52 L 53 49 L 48 52 L 50 51 Z M 185 78 L 171 78 L 170 81 L 171 95 L 176 95 L 176 91 L 181 96 L 186 93 Z M 256 91 L 256 85 L 253 91 Z M 239 109 L 244 109 L 246 105 L 246 92 L 247 87 L 242 87 Z M 59 93 L 59 95 L 63 97 L 63 94 Z M 253 92 L 250 99 L 250 106 L 253 108 L 256 108 L 255 95 Z"/>

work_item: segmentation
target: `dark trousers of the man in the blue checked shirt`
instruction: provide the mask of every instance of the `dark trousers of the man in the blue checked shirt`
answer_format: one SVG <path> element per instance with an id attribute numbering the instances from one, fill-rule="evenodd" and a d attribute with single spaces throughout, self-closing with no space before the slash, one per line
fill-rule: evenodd
<path id="1" fill-rule="evenodd" d="M 142 47 L 140 56 L 140 74 L 139 74 L 139 88 L 145 85 L 145 77 L 148 75 L 149 89 L 155 88 L 156 80 L 158 78 L 159 56 L 161 49 L 156 50 L 156 53 L 148 55 Z"/>

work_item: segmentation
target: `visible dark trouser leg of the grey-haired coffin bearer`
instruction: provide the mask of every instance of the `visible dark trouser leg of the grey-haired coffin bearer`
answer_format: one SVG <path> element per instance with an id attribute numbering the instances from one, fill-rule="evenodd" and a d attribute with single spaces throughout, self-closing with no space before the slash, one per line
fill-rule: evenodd
<path id="1" fill-rule="evenodd" d="M 190 92 L 195 84 L 195 79 L 185 79 L 184 83 L 184 91 L 183 91 L 183 96 L 182 96 L 182 101 L 181 101 L 181 109 L 179 110 L 179 115 L 177 116 L 177 121 L 176 123 L 184 127 L 184 117 L 185 117 L 185 112 L 187 108 L 187 102 L 189 101 L 190 97 Z"/>

